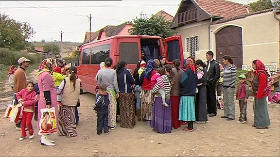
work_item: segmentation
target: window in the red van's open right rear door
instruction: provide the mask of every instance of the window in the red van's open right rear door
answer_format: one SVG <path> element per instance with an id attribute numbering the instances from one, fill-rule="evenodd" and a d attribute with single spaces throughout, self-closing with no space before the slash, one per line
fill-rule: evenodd
<path id="1" fill-rule="evenodd" d="M 178 47 L 178 45 L 179 45 L 178 40 L 167 43 L 168 61 L 173 61 L 175 59 L 181 60 L 180 48 Z"/>

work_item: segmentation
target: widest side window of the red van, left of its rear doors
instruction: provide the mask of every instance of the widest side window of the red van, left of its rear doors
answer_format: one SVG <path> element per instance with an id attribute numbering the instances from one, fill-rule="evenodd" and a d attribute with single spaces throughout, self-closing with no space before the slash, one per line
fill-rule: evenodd
<path id="1" fill-rule="evenodd" d="M 110 44 L 92 47 L 91 49 L 91 64 L 100 64 L 104 62 L 110 54 Z"/>

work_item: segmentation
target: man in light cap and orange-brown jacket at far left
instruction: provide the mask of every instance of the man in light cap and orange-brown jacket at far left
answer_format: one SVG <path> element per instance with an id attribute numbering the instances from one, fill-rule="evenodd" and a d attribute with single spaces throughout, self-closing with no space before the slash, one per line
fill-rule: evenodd
<path id="1" fill-rule="evenodd" d="M 14 93 L 17 95 L 17 93 L 26 88 L 27 78 L 25 70 L 29 66 L 29 59 L 26 59 L 25 57 L 21 57 L 18 59 L 19 68 L 16 70 L 14 74 Z M 16 102 L 18 103 L 17 97 Z M 17 130 L 20 130 L 20 123 L 16 124 Z"/>

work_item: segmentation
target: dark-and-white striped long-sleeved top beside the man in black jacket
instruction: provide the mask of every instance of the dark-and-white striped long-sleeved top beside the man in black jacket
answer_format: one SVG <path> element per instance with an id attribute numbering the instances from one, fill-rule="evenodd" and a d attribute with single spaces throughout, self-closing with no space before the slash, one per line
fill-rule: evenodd
<path id="1" fill-rule="evenodd" d="M 236 66 L 234 64 L 231 64 L 230 66 L 226 65 L 223 78 L 224 88 L 235 88 Z"/>

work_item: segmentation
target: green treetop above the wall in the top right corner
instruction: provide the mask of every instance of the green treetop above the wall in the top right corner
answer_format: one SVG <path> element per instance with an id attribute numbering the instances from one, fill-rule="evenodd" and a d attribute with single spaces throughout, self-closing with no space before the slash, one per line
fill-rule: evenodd
<path id="1" fill-rule="evenodd" d="M 258 0 L 249 4 L 253 12 L 278 7 L 279 0 Z"/>

